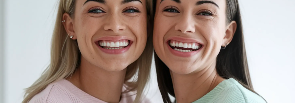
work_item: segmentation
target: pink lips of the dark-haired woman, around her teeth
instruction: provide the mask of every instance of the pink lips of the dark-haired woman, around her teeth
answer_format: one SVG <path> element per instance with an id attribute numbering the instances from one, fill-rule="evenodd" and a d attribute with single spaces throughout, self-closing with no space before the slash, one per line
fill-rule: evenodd
<path id="1" fill-rule="evenodd" d="M 191 57 L 191 56 L 196 55 L 199 51 L 201 51 L 201 49 L 203 49 L 203 46 L 202 46 L 200 49 L 198 49 L 196 51 L 191 51 L 191 52 L 176 51 L 176 50 L 172 49 L 170 47 L 170 45 L 168 44 L 169 40 L 176 40 L 176 41 L 181 41 L 181 42 L 195 42 L 195 43 L 199 43 L 199 44 L 201 44 L 201 43 L 199 41 L 196 41 L 196 40 L 190 39 L 190 38 L 172 37 L 172 38 L 167 39 L 166 40 L 166 45 L 167 45 L 169 51 L 171 51 L 171 53 L 173 55 L 178 56 L 178 57 Z M 203 44 L 201 44 L 201 45 L 203 45 Z"/>

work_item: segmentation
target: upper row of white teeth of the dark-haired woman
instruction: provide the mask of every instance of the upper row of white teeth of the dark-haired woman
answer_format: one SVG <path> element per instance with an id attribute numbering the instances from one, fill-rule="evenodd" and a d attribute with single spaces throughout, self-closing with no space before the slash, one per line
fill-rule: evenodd
<path id="1" fill-rule="evenodd" d="M 197 43 L 183 43 L 175 40 L 170 41 L 170 46 L 173 47 L 182 47 L 182 48 L 191 48 L 191 49 L 199 49 L 199 44 Z"/>

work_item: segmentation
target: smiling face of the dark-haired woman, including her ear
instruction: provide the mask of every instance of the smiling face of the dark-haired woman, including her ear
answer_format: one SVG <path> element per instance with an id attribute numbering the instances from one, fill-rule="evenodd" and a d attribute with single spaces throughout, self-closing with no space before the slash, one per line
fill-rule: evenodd
<path id="1" fill-rule="evenodd" d="M 157 0 L 153 44 L 172 72 L 189 74 L 214 65 L 234 32 L 235 21 L 226 22 L 225 0 Z"/>

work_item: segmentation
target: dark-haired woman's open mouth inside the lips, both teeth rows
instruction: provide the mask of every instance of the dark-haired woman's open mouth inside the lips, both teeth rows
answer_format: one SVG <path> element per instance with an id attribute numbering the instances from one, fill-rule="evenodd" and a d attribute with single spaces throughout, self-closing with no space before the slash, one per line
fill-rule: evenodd
<path id="1" fill-rule="evenodd" d="M 180 52 L 192 52 L 199 50 L 202 45 L 199 43 L 186 43 L 186 42 L 180 42 L 176 40 L 169 40 L 168 41 L 169 46 Z"/>

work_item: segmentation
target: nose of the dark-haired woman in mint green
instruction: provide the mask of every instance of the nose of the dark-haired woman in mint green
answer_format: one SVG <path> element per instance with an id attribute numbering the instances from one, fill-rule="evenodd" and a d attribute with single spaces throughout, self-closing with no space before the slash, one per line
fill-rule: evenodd
<path id="1" fill-rule="evenodd" d="M 183 34 L 194 33 L 196 31 L 194 17 L 190 15 L 181 17 L 181 20 L 175 25 L 175 30 L 181 31 Z"/>

